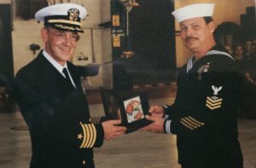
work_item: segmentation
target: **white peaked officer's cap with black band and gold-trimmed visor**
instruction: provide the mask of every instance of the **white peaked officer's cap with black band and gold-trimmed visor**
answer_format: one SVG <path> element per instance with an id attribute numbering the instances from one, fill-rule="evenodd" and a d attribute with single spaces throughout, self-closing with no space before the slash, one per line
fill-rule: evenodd
<path id="1" fill-rule="evenodd" d="M 61 31 L 84 32 L 81 20 L 86 17 L 86 9 L 75 3 L 59 3 L 38 10 L 35 18 Z"/>

